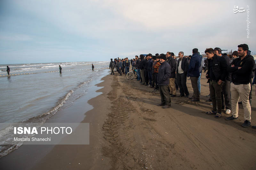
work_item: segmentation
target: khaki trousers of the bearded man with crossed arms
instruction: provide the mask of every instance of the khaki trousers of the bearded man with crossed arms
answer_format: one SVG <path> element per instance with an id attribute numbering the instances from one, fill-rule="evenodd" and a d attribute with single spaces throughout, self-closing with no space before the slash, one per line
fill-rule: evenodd
<path id="1" fill-rule="evenodd" d="M 238 117 L 238 100 L 240 97 L 244 107 L 244 120 L 248 120 L 249 122 L 251 122 L 250 90 L 250 83 L 235 85 L 232 82 L 230 84 L 232 115 L 233 117 Z"/>

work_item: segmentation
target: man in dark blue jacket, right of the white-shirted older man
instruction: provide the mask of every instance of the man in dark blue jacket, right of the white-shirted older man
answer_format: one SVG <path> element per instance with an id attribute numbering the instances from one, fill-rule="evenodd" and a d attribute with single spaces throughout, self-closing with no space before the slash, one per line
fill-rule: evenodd
<path id="1" fill-rule="evenodd" d="M 199 67 L 200 67 L 202 59 L 198 54 L 198 49 L 197 48 L 194 48 L 192 50 L 192 53 L 193 53 L 192 57 L 189 61 L 187 77 L 190 77 L 191 85 L 192 85 L 194 94 L 189 99 L 193 99 L 192 102 L 199 102 L 200 101 L 200 96 L 199 96 L 199 91 L 198 91 L 198 87 L 197 87 L 197 80 L 198 80 L 198 77 L 200 75 Z"/>

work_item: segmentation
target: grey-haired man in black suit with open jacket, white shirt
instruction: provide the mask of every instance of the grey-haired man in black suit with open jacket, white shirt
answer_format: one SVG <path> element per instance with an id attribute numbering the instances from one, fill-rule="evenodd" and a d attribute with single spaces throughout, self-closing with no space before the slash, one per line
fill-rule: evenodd
<path id="1" fill-rule="evenodd" d="M 179 60 L 177 67 L 177 83 L 180 88 L 180 97 L 189 96 L 188 87 L 187 87 L 187 73 L 188 73 L 188 59 L 184 57 L 182 51 L 179 52 Z M 184 94 L 185 93 L 185 94 Z"/>

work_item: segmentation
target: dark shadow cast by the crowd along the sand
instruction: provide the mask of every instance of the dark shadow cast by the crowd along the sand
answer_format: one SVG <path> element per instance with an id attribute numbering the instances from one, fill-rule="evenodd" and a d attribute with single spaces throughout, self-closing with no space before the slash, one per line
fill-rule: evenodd
<path id="1" fill-rule="evenodd" d="M 150 109 L 158 110 L 158 108 L 161 108 L 161 107 L 157 106 L 157 104 L 161 102 L 161 97 L 159 95 L 159 92 L 152 92 L 153 88 L 148 88 L 147 86 L 140 85 L 140 83 L 138 81 L 136 81 L 136 80 L 127 80 L 124 77 L 122 77 L 118 81 L 129 85 L 126 88 L 132 88 L 132 89 L 136 89 L 136 90 L 140 90 L 142 92 L 148 92 L 148 93 L 152 94 L 152 95 L 149 94 L 150 96 L 152 96 L 151 98 L 145 98 L 143 96 L 132 96 L 132 98 L 130 98 L 130 99 L 132 99 L 133 101 L 140 101 L 140 102 L 150 104 L 150 105 L 152 105 L 152 108 L 150 108 Z M 204 86 L 205 88 L 208 87 L 207 85 L 202 85 L 202 86 Z M 201 86 L 201 88 L 202 88 L 202 86 Z M 192 94 L 193 94 L 193 91 L 191 91 L 191 89 L 192 88 L 188 87 L 190 96 L 192 96 Z M 255 92 L 253 92 L 253 94 L 255 94 Z M 249 128 L 244 128 L 244 127 L 241 126 L 244 123 L 244 114 L 243 114 L 243 105 L 242 104 L 239 104 L 238 119 L 237 120 L 232 120 L 232 121 L 227 121 L 227 120 L 225 120 L 225 118 L 231 116 L 231 114 L 229 114 L 229 115 L 225 114 L 224 110 L 222 110 L 222 117 L 220 117 L 220 118 L 215 118 L 214 115 L 206 115 L 205 114 L 207 111 L 212 110 L 211 102 L 205 102 L 208 99 L 208 97 L 200 95 L 200 102 L 191 102 L 191 100 L 189 100 L 188 98 L 178 97 L 179 95 L 180 95 L 179 90 L 177 90 L 177 97 L 171 97 L 172 109 L 177 110 L 177 111 L 181 111 L 184 114 L 188 114 L 188 115 L 191 115 L 191 116 L 202 117 L 204 119 L 217 121 L 221 124 L 229 125 L 229 126 L 235 127 L 238 130 L 248 132 L 248 133 L 252 133 L 252 134 L 256 135 L 255 129 L 252 129 L 251 126 Z M 255 97 L 255 95 L 253 95 L 253 98 L 254 97 Z M 129 97 L 128 97 L 128 99 L 129 99 Z M 198 109 L 186 106 L 186 104 L 195 105 Z M 182 108 L 177 107 L 179 105 L 182 105 Z M 255 107 L 251 107 L 251 108 L 252 108 L 252 114 L 251 115 L 254 115 L 255 114 L 254 112 L 256 111 L 256 108 Z M 189 110 L 189 111 L 184 112 L 184 109 Z M 254 125 L 254 124 L 252 124 L 252 125 Z"/>

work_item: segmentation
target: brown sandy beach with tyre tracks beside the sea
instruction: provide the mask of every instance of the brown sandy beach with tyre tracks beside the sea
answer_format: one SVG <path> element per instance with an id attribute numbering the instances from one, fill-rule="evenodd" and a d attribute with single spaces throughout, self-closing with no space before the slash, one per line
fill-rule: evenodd
<path id="1" fill-rule="evenodd" d="M 124 75 L 107 75 L 97 85 L 104 87 L 97 90 L 102 94 L 88 101 L 93 109 L 82 121 L 90 123 L 90 145 L 27 145 L 0 164 L 4 169 L 255 169 L 256 131 L 241 127 L 243 106 L 235 121 L 226 121 L 230 115 L 224 113 L 220 119 L 206 115 L 212 106 L 204 102 L 209 94 L 204 77 L 200 102 L 174 97 L 171 108 L 162 109 L 152 88 Z M 189 80 L 187 85 L 191 96 Z M 256 125 L 255 86 L 252 98 Z M 42 156 L 35 157 L 38 153 Z"/>

